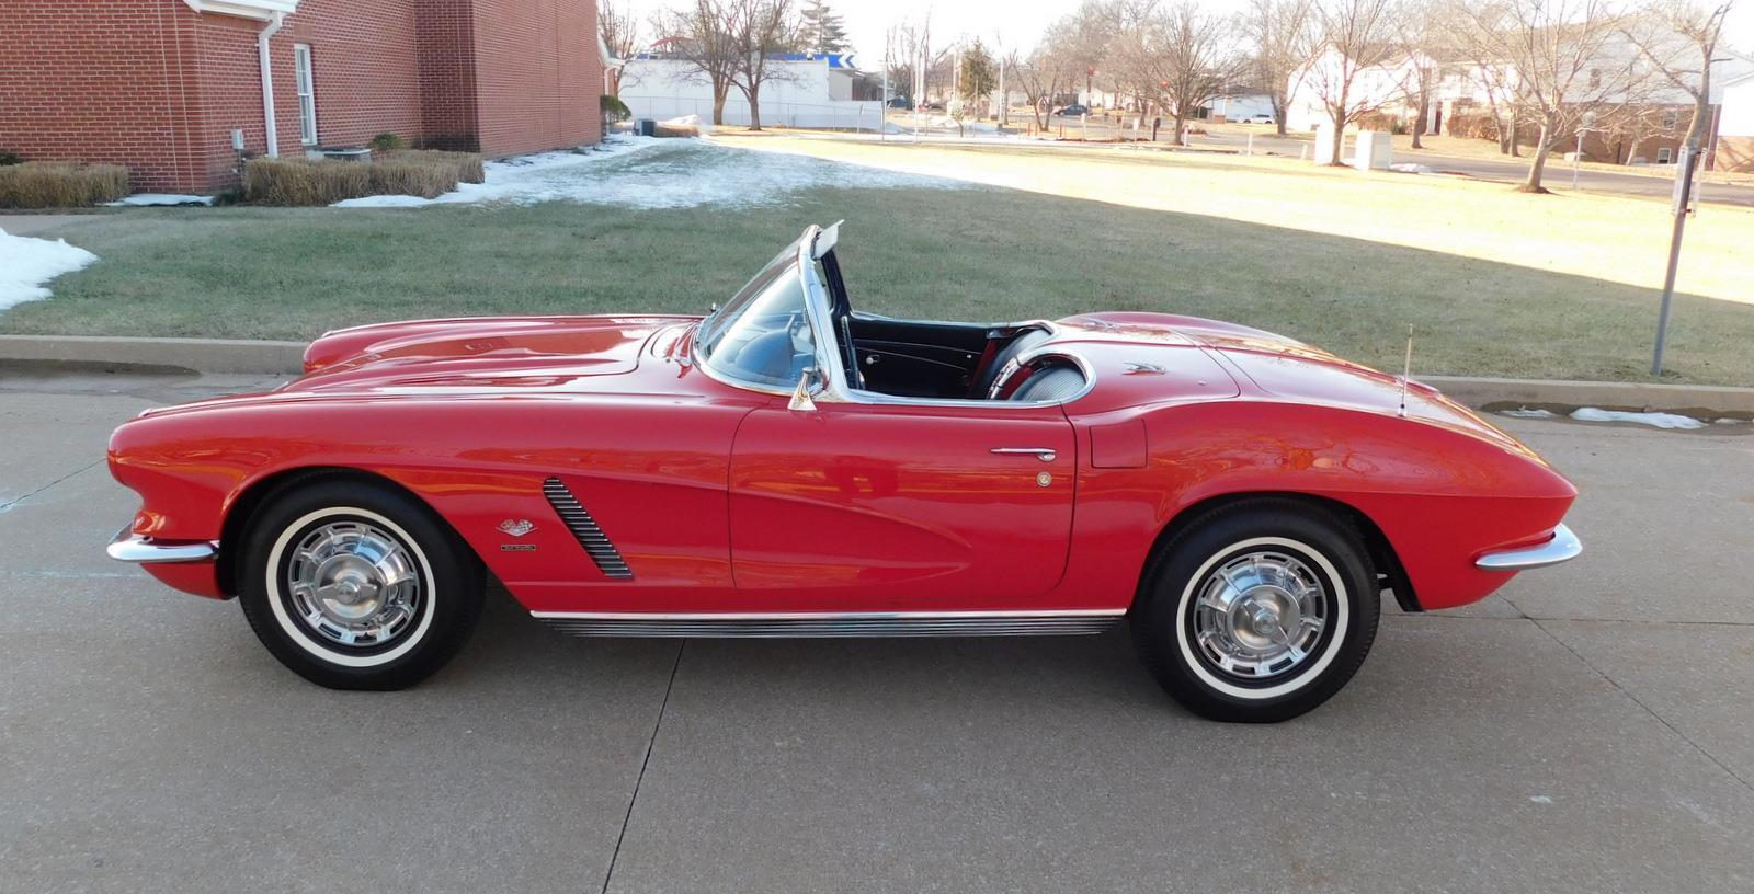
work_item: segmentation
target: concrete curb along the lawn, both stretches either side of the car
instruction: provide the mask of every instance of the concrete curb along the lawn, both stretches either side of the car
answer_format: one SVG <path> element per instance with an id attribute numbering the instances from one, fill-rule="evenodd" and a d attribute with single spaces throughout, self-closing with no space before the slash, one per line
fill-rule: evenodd
<path id="1" fill-rule="evenodd" d="M 198 373 L 298 375 L 303 368 L 303 354 L 305 342 L 0 335 L 0 361 L 67 363 L 105 370 L 168 366 Z M 1691 410 L 1696 415 L 1754 414 L 1754 387 L 1466 375 L 1421 375 L 1417 380 L 1468 407 L 1514 403 L 1608 410 Z"/>

